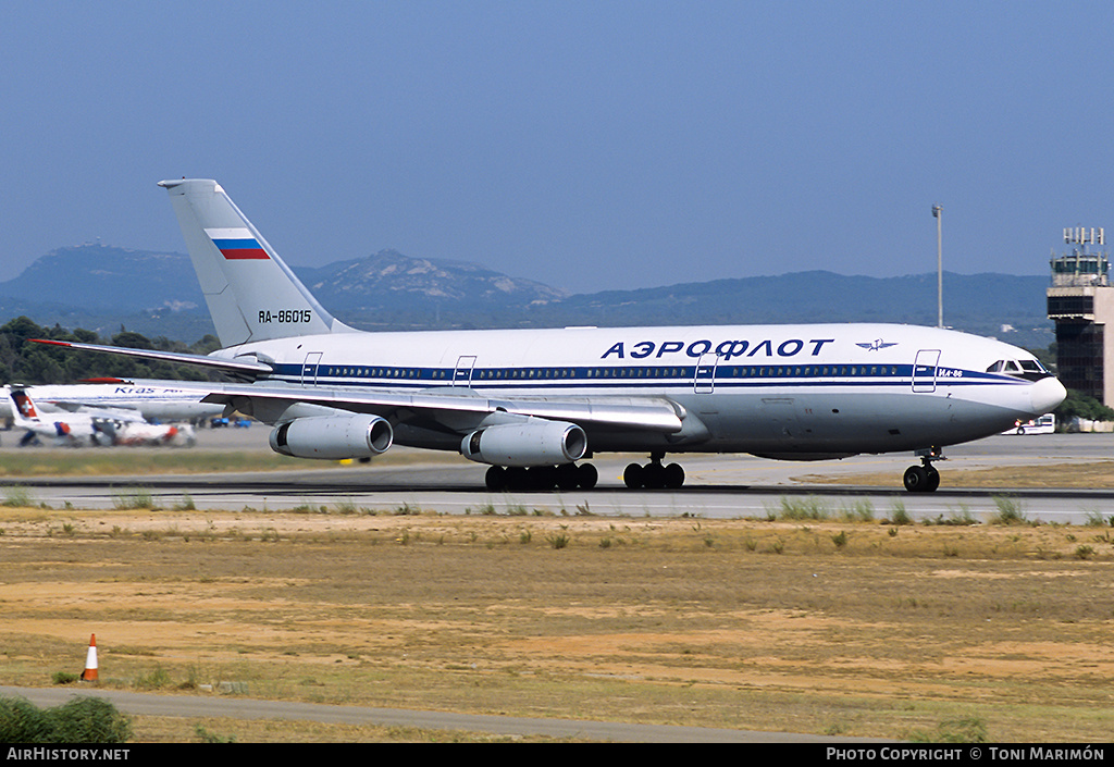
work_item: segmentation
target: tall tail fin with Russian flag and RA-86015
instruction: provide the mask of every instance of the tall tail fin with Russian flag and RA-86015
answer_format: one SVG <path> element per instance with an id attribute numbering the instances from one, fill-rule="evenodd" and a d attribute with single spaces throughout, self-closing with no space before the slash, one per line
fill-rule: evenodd
<path id="1" fill-rule="evenodd" d="M 326 312 L 215 181 L 170 194 L 221 344 L 351 330 Z"/>

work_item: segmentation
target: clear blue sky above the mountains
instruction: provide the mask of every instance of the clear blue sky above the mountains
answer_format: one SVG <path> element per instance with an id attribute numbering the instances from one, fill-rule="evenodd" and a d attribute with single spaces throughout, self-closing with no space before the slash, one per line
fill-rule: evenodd
<path id="1" fill-rule="evenodd" d="M 290 264 L 393 249 L 570 292 L 1045 274 L 1114 236 L 1114 3 L 10 2 L 0 280 L 185 252 L 217 179 Z M 60 275 L 65 279 L 65 275 Z"/>

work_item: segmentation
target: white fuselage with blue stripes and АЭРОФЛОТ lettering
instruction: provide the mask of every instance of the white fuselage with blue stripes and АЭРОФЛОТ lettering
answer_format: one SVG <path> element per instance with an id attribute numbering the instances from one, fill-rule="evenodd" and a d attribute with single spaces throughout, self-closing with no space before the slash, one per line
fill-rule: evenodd
<path id="1" fill-rule="evenodd" d="M 911 450 L 998 434 L 1064 396 L 1019 348 L 896 324 L 340 332 L 215 355 L 255 355 L 274 368 L 267 384 L 303 390 L 590 400 L 595 408 L 659 400 L 686 420 L 673 435 L 589 426 L 589 452 L 808 459 Z M 1043 376 L 991 372 L 1003 360 L 1035 365 Z M 459 446 L 459 433 L 443 423 L 394 417 L 398 444 Z"/>

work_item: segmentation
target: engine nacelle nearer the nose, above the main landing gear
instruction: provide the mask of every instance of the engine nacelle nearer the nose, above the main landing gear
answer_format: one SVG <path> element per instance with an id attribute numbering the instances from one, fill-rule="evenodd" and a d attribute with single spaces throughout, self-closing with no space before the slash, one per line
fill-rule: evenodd
<path id="1" fill-rule="evenodd" d="M 588 437 L 576 424 L 530 419 L 477 429 L 460 443 L 469 460 L 496 466 L 556 466 L 579 460 Z"/>

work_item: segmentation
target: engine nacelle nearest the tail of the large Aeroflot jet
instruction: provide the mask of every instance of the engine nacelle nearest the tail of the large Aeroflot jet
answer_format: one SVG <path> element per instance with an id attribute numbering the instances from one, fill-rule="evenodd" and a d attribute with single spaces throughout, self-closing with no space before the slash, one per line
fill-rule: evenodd
<path id="1" fill-rule="evenodd" d="M 394 440 L 391 425 L 379 416 L 313 416 L 280 424 L 271 431 L 271 449 L 295 458 L 370 458 Z"/>

